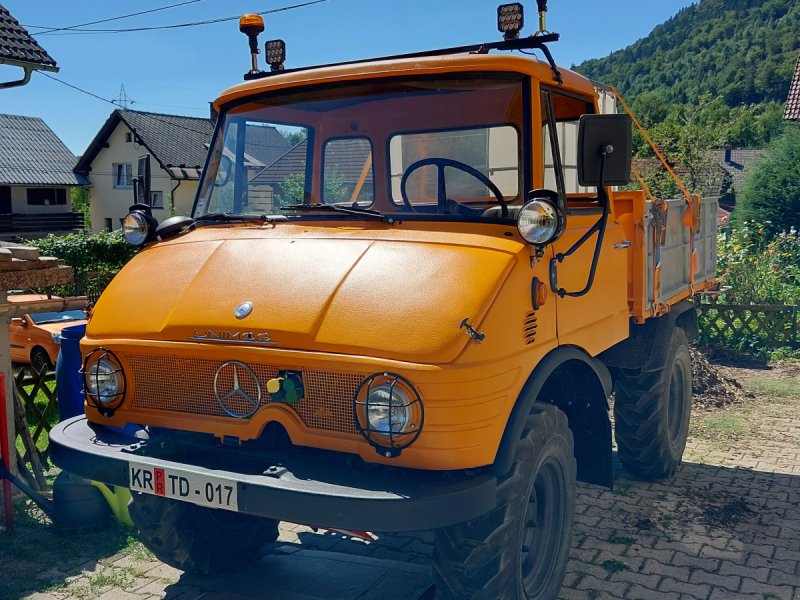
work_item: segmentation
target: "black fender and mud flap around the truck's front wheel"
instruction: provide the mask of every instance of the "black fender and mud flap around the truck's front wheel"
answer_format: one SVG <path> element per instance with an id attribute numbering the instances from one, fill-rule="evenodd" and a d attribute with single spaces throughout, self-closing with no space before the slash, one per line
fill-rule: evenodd
<path id="1" fill-rule="evenodd" d="M 579 363 L 594 374 L 595 379 L 582 381 L 582 385 L 594 386 L 595 394 L 581 406 L 565 406 L 558 401 L 553 403 L 562 408 L 569 418 L 570 429 L 575 437 L 575 457 L 578 461 L 578 479 L 611 487 L 613 467 L 611 457 L 611 421 L 608 417 L 608 396 L 612 381 L 608 368 L 598 359 L 592 358 L 583 350 L 571 346 L 559 346 L 547 354 L 533 369 L 520 392 L 517 403 L 506 423 L 500 446 L 497 450 L 491 472 L 495 475 L 507 473 L 511 468 L 515 442 L 522 435 L 525 421 L 533 403 L 539 399 L 542 390 L 551 376 L 567 363 Z M 599 397 L 602 395 L 602 397 Z"/>

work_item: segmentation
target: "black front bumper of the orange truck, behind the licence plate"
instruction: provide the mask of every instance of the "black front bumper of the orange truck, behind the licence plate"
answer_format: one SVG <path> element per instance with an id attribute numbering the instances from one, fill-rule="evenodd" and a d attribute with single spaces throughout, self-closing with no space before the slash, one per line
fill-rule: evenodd
<path id="1" fill-rule="evenodd" d="M 50 455 L 64 470 L 128 487 L 129 462 L 186 469 L 235 481 L 238 511 L 294 523 L 367 531 L 417 531 L 461 523 L 492 510 L 497 481 L 491 475 L 403 468 L 362 469 L 343 456 L 259 452 L 241 462 L 247 472 L 220 468 L 219 452 L 122 435 L 75 417 L 50 432 Z M 228 452 L 228 450 L 224 450 Z M 231 449 L 230 458 L 240 453 Z M 257 469 L 253 459 L 257 458 Z M 264 474 L 264 473 L 269 473 Z"/>

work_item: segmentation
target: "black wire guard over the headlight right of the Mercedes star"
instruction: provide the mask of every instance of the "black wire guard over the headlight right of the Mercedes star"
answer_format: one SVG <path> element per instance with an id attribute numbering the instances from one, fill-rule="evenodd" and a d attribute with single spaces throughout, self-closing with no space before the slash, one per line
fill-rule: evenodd
<path id="1" fill-rule="evenodd" d="M 369 397 L 370 392 L 372 391 L 372 386 L 376 379 L 385 380 L 389 384 L 389 431 L 380 431 L 374 429 L 369 422 Z M 398 382 L 400 382 L 402 386 L 408 392 L 410 392 L 410 395 L 413 396 L 413 398 L 408 402 L 393 402 L 394 394 L 392 392 L 394 391 L 394 387 L 398 384 Z M 410 409 L 412 426 L 414 427 L 413 431 L 402 433 L 396 433 L 392 431 L 391 414 L 392 409 L 396 407 Z M 417 441 L 420 433 L 422 433 L 422 427 L 425 423 L 425 410 L 423 408 L 422 399 L 420 398 L 419 393 L 408 379 L 402 375 L 398 375 L 397 373 L 375 373 L 374 375 L 370 375 L 364 381 L 362 381 L 361 385 L 356 390 L 355 396 L 353 397 L 353 420 L 355 421 L 358 432 L 365 440 L 367 440 L 367 442 L 369 442 L 370 446 L 375 448 L 378 454 L 381 454 L 386 458 L 395 458 L 400 456 L 400 453 L 405 448 L 408 448 L 411 444 Z M 388 444 L 386 442 L 388 442 Z"/>

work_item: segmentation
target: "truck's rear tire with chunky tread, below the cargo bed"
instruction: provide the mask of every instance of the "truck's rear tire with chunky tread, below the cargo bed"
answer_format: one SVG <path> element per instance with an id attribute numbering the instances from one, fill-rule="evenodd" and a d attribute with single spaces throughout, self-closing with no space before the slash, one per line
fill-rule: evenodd
<path id="1" fill-rule="evenodd" d="M 692 405 L 692 360 L 683 329 L 673 330 L 661 368 L 620 369 L 614 391 L 614 431 L 623 466 L 641 479 L 672 476 L 683 459 Z"/>

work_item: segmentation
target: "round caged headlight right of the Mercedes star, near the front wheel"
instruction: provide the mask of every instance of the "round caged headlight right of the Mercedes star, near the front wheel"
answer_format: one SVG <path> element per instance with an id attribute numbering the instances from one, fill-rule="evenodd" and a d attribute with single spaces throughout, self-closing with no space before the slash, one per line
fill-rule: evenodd
<path id="1" fill-rule="evenodd" d="M 365 379 L 353 400 L 356 427 L 382 455 L 394 457 L 422 430 L 422 400 L 406 378 L 378 373 Z"/>

